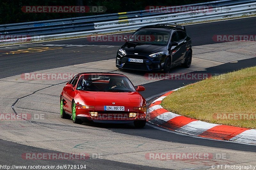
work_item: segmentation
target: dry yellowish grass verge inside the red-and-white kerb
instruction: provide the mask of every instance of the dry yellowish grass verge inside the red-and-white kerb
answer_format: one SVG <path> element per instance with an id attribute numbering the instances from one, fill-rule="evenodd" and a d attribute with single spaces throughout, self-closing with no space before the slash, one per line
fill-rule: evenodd
<path id="1" fill-rule="evenodd" d="M 256 129 L 256 67 L 190 84 L 161 105 L 204 122 Z"/>

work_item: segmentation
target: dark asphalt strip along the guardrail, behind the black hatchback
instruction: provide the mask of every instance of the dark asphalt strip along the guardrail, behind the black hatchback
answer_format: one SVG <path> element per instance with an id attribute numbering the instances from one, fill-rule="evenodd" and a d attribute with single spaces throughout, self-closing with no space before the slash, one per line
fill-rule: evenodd
<path id="1" fill-rule="evenodd" d="M 186 26 L 188 35 L 192 38 L 192 46 L 219 43 L 212 40 L 214 35 L 253 35 L 255 34 L 254 28 L 255 17 Z M 39 44 L 61 44 L 66 46 L 59 46 L 60 49 L 48 50 L 44 52 L 12 54 L 12 51 L 17 51 L 20 49 L 58 47 L 40 46 Z M 80 63 L 113 59 L 116 55 L 117 49 L 123 44 L 123 42 L 91 42 L 90 38 L 79 38 L 0 47 L 0 78 L 37 70 L 52 69 Z M 75 45 L 88 46 L 80 48 L 79 46 Z"/>

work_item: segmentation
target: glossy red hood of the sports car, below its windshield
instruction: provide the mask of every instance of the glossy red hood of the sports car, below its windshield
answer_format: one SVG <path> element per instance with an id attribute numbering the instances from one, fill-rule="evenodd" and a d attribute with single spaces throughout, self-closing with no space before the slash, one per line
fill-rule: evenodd
<path id="1" fill-rule="evenodd" d="M 141 96 L 138 92 L 87 92 L 79 91 L 85 102 L 132 102 L 140 103 Z"/>

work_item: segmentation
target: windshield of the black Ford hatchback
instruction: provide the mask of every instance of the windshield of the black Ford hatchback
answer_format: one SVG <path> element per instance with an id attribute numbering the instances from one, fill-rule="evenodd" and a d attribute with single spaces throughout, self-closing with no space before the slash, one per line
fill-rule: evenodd
<path id="1" fill-rule="evenodd" d="M 170 33 L 156 30 L 139 30 L 135 32 L 128 42 L 151 45 L 166 45 L 169 41 Z"/>

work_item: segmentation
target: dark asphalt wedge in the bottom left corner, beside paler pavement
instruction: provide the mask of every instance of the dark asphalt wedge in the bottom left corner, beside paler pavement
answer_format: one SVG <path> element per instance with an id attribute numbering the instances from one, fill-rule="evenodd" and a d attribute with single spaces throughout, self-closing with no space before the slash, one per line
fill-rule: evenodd
<path id="1" fill-rule="evenodd" d="M 27 145 L 17 144 L 13 142 L 8 142 L 0 139 L 1 147 L 0 154 L 2 157 L 1 165 L 20 165 L 24 166 L 28 164 L 27 160 L 21 157 L 13 157 L 13 155 L 21 155 L 24 152 L 40 152 L 40 153 L 52 153 L 51 150 L 35 148 Z M 8 152 L 6 152 L 8 151 Z M 60 152 L 54 152 L 60 153 Z M 88 169 L 149 169 L 149 166 L 141 166 L 135 164 L 127 164 L 117 161 L 110 161 L 106 159 L 86 159 L 84 160 L 29 160 L 29 165 L 86 165 Z M 97 168 L 95 166 L 97 165 Z M 158 168 L 162 169 L 162 168 Z"/>

